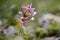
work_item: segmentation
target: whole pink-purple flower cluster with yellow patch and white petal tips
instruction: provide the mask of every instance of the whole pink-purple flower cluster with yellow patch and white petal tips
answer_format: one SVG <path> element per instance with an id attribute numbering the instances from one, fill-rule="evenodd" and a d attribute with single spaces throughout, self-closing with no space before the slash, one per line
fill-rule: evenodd
<path id="1" fill-rule="evenodd" d="M 22 5 L 21 6 L 21 10 L 18 13 L 22 14 L 23 16 L 18 18 L 18 21 L 24 25 L 25 21 L 28 19 L 34 20 L 34 15 L 36 14 L 35 8 L 32 8 L 32 3 L 28 4 L 28 5 Z"/>

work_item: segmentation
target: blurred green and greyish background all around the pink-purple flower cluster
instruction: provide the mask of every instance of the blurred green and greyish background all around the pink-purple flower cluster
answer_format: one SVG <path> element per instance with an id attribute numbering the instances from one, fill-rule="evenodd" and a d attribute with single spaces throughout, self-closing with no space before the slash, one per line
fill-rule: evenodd
<path id="1" fill-rule="evenodd" d="M 16 18 L 27 2 L 37 14 L 19 27 Z M 0 0 L 0 40 L 60 40 L 60 0 Z"/>

